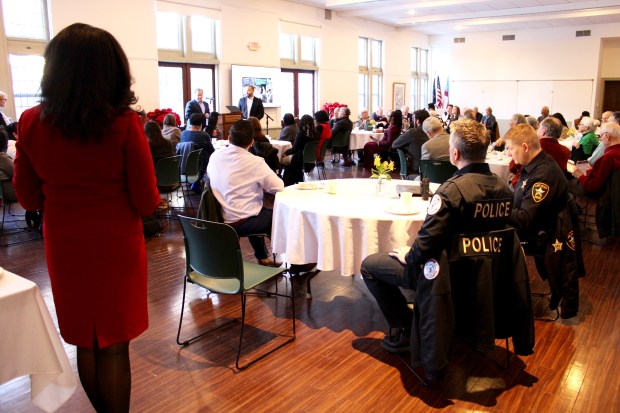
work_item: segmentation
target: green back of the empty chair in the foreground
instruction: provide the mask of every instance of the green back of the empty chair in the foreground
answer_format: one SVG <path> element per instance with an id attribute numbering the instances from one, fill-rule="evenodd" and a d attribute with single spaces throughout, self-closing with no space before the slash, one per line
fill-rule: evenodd
<path id="1" fill-rule="evenodd" d="M 239 237 L 227 224 L 179 215 L 185 241 L 187 273 L 206 278 L 237 280 L 237 294 L 243 292 L 243 258 Z M 218 292 L 218 291 L 214 291 Z"/>

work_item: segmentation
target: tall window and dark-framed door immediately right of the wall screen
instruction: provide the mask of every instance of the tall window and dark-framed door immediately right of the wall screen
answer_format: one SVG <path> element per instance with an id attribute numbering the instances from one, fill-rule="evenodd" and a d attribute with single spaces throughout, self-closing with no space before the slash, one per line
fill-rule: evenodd
<path id="1" fill-rule="evenodd" d="M 318 56 L 318 27 L 280 21 L 282 114 L 292 113 L 296 117 L 314 114 Z"/>

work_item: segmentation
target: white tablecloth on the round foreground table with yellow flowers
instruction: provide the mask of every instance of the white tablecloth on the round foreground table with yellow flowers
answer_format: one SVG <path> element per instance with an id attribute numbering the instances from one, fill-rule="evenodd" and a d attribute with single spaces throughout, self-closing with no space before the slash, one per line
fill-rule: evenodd
<path id="1" fill-rule="evenodd" d="M 328 185 L 331 181 L 321 181 Z M 271 245 L 287 262 L 316 262 L 323 271 L 360 274 L 362 260 L 376 252 L 412 245 L 426 217 L 428 201 L 413 198 L 413 215 L 396 215 L 386 208 L 400 205 L 396 185 L 414 181 L 384 181 L 380 195 L 375 179 L 337 179 L 336 194 L 325 189 L 290 186 L 276 195 Z M 433 185 L 431 189 L 436 189 Z"/>

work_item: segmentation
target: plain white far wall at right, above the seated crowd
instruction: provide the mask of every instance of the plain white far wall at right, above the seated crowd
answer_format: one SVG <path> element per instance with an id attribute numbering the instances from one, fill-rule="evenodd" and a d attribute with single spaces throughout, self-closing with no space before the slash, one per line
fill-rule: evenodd
<path id="1" fill-rule="evenodd" d="M 590 37 L 575 37 L 584 29 L 591 30 Z M 506 34 L 516 39 L 502 41 Z M 432 36 L 433 73 L 450 77 L 450 102 L 461 108 L 491 106 L 505 120 L 519 112 L 538 115 L 547 105 L 570 120 L 582 110 L 600 113 L 601 39 L 617 36 L 616 24 Z M 453 43 L 453 37 L 466 41 Z M 614 73 L 618 51 L 609 51 L 615 54 Z"/>

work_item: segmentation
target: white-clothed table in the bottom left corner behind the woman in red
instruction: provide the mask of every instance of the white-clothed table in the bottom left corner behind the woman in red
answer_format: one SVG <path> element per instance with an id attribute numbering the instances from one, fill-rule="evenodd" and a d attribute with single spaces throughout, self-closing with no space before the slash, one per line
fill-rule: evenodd
<path id="1" fill-rule="evenodd" d="M 0 384 L 30 375 L 32 402 L 53 412 L 77 380 L 37 285 L 0 267 Z"/>

